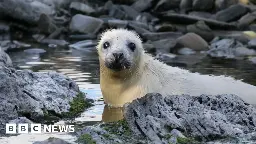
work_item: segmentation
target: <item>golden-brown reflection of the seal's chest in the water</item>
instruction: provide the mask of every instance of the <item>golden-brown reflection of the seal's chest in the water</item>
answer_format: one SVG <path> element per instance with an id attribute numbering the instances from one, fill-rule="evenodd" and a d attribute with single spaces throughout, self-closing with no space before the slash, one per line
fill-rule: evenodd
<path id="1" fill-rule="evenodd" d="M 123 115 L 123 108 L 114 108 L 114 107 L 109 107 L 105 105 L 104 111 L 102 114 L 102 121 L 103 122 L 113 122 L 113 121 L 119 121 L 124 118 Z"/>

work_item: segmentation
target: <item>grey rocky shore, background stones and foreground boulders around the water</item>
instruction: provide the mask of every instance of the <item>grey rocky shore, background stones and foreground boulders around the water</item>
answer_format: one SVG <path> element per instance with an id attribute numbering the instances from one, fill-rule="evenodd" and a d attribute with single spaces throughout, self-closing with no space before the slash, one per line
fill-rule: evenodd
<path id="1" fill-rule="evenodd" d="M 127 28 L 136 31 L 145 50 L 162 61 L 202 54 L 256 64 L 254 4 L 254 0 L 0 1 L 0 133 L 10 121 L 53 122 L 90 106 L 70 78 L 16 70 L 5 52 L 44 52 L 32 43 L 87 51 L 105 29 Z M 77 132 L 77 143 L 255 142 L 255 125 L 255 108 L 234 95 L 148 94 L 126 106 L 124 120 Z M 35 142 L 50 143 L 68 142 L 56 138 Z"/>

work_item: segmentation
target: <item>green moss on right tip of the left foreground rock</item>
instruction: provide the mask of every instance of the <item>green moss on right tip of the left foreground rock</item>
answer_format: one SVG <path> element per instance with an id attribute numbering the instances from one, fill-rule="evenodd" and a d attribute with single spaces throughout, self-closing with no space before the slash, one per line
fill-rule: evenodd
<path id="1" fill-rule="evenodd" d="M 88 102 L 84 98 L 84 93 L 80 92 L 77 96 L 71 101 L 69 112 L 62 113 L 63 117 L 73 118 L 82 113 L 86 108 L 93 106 L 92 103 Z"/>

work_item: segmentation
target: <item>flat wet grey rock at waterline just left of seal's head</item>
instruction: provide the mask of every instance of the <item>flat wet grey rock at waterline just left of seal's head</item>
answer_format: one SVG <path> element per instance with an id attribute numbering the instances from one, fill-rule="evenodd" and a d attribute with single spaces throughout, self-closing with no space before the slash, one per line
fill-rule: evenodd
<path id="1" fill-rule="evenodd" d="M 97 46 L 97 41 L 95 40 L 84 40 L 84 41 L 79 41 L 69 45 L 70 48 L 74 48 L 78 50 L 95 49 L 96 46 Z"/>

